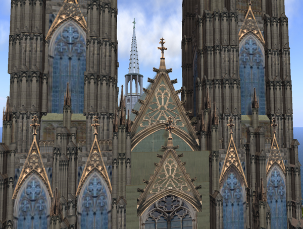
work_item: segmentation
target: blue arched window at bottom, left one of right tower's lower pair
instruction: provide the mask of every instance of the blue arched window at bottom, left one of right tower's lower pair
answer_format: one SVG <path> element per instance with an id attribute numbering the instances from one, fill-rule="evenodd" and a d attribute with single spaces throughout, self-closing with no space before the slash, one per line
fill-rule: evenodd
<path id="1" fill-rule="evenodd" d="M 245 187 L 234 169 L 228 171 L 220 191 L 223 195 L 224 229 L 244 228 Z"/>

